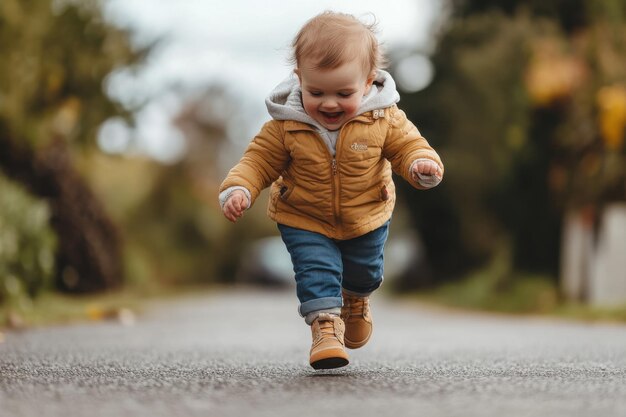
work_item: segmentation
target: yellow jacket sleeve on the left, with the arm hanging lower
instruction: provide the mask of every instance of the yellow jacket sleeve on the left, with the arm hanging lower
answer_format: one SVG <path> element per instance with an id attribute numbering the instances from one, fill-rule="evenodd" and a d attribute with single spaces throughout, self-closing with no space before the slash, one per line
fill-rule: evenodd
<path id="1" fill-rule="evenodd" d="M 289 163 L 281 126 L 275 120 L 263 126 L 237 165 L 228 172 L 220 185 L 220 193 L 230 187 L 244 187 L 250 192 L 252 205 L 261 191 L 278 179 Z"/>

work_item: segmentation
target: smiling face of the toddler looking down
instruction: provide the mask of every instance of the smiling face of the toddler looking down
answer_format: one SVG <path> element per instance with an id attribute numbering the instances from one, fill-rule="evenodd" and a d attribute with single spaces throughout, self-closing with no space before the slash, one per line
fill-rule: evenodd
<path id="1" fill-rule="evenodd" d="M 328 130 L 337 130 L 357 115 L 373 82 L 360 63 L 349 61 L 334 69 L 312 69 L 307 61 L 296 69 L 304 110 Z"/>

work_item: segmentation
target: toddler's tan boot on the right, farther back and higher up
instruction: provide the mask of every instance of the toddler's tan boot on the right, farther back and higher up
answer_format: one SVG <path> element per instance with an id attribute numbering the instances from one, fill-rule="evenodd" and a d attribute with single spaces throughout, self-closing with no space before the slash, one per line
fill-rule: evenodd
<path id="1" fill-rule="evenodd" d="M 346 325 L 345 344 L 349 349 L 358 349 L 372 336 L 372 314 L 369 297 L 358 297 L 342 292 L 341 318 Z"/>

